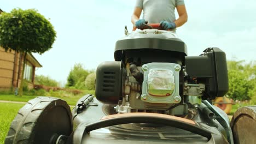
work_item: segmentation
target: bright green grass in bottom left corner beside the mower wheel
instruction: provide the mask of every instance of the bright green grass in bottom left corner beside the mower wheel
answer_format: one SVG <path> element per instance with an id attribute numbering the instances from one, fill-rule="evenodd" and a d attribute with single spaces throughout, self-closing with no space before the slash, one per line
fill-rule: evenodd
<path id="1" fill-rule="evenodd" d="M 0 103 L 0 143 L 4 143 L 10 124 L 22 106 L 24 104 Z"/>

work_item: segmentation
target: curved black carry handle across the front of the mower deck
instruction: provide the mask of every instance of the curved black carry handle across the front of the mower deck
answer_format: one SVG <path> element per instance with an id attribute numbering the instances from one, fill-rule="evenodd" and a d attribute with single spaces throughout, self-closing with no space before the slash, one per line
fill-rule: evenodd
<path id="1" fill-rule="evenodd" d="M 208 140 L 210 140 L 212 137 L 211 131 L 199 127 L 199 125 L 194 121 L 158 113 L 123 113 L 110 115 L 103 117 L 99 122 L 86 125 L 84 130 L 86 133 L 90 133 L 92 130 L 128 123 L 164 124 L 170 127 L 190 131 L 191 133 L 206 137 Z"/>

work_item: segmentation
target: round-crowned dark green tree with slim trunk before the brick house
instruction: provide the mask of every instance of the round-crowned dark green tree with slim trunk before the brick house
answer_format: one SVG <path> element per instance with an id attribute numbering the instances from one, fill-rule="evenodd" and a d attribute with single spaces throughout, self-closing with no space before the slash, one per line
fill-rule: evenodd
<path id="1" fill-rule="evenodd" d="M 56 37 L 53 25 L 49 20 L 34 9 L 13 9 L 10 13 L 2 13 L 0 16 L 0 46 L 5 51 L 21 52 L 24 56 L 22 81 L 27 53 L 42 54 L 51 49 Z"/>

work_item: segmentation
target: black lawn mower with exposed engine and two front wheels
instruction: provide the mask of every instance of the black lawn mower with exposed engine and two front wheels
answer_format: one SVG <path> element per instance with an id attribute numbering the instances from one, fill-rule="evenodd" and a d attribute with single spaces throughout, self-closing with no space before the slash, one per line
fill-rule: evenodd
<path id="1" fill-rule="evenodd" d="M 228 92 L 225 53 L 217 47 L 188 56 L 187 45 L 158 24 L 115 43 L 115 61 L 96 70 L 95 95 L 71 109 L 37 97 L 22 107 L 5 143 L 253 143 L 255 107 L 230 123 L 212 100 Z"/>

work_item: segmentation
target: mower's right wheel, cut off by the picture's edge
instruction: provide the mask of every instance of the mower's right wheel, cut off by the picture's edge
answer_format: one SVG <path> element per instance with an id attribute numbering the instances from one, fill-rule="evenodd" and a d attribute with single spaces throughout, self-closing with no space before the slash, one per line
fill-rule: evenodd
<path id="1" fill-rule="evenodd" d="M 235 143 L 255 143 L 256 106 L 245 106 L 238 109 L 234 113 L 230 125 Z"/>

